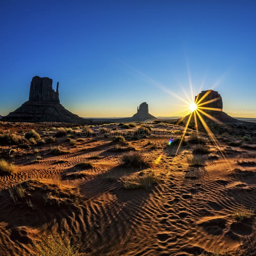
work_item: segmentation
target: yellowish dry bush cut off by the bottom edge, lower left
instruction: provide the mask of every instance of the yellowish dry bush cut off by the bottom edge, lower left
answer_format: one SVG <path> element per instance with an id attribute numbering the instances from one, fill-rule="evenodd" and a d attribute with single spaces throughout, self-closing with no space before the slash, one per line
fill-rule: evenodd
<path id="1" fill-rule="evenodd" d="M 80 246 L 72 245 L 71 238 L 66 238 L 64 232 L 61 235 L 51 233 L 48 236 L 39 236 L 39 239 L 33 240 L 33 250 L 37 256 L 78 256 L 80 255 Z"/>

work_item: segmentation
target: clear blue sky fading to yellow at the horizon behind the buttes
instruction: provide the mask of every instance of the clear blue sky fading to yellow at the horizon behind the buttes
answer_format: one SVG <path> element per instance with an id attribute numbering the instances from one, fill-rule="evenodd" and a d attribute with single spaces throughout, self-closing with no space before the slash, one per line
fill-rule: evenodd
<path id="1" fill-rule="evenodd" d="M 256 118 L 255 12 L 242 0 L 0 0 L 0 115 L 46 76 L 82 117 L 132 116 L 145 101 L 183 116 L 186 94 L 213 89 L 224 112 Z"/>

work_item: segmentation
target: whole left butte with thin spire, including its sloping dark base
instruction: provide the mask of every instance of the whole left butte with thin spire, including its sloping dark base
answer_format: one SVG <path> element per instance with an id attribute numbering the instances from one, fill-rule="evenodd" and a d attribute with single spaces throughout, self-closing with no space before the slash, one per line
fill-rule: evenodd
<path id="1" fill-rule="evenodd" d="M 64 122 L 87 123 L 92 120 L 79 117 L 60 104 L 59 82 L 56 92 L 49 77 L 34 76 L 30 83 L 29 100 L 3 117 L 14 122 Z"/>

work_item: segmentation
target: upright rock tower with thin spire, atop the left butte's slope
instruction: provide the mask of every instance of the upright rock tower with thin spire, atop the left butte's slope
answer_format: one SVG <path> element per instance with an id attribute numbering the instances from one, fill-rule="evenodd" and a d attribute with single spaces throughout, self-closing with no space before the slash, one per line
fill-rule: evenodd
<path id="1" fill-rule="evenodd" d="M 30 83 L 29 100 L 60 103 L 59 82 L 55 92 L 52 88 L 51 78 L 34 76 Z"/>

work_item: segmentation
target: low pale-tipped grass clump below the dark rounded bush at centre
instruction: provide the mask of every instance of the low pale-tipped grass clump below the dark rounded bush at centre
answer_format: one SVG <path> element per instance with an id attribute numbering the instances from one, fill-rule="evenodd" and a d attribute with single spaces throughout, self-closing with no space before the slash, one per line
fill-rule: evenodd
<path id="1" fill-rule="evenodd" d="M 124 188 L 150 188 L 154 183 L 159 180 L 159 175 L 154 170 L 139 172 L 129 176 L 125 176 L 123 180 Z"/>

